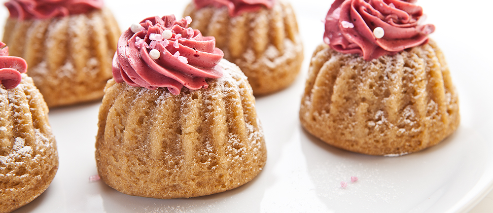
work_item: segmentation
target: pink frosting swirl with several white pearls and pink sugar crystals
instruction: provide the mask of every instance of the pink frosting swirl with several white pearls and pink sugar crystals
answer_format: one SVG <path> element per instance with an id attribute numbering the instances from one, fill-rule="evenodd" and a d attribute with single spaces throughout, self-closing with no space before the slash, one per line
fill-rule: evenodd
<path id="1" fill-rule="evenodd" d="M 222 69 L 216 65 L 224 53 L 215 47 L 214 37 L 187 28 L 190 22 L 190 17 L 177 21 L 174 15 L 156 16 L 125 31 L 113 57 L 116 82 L 147 89 L 167 87 L 177 95 L 183 86 L 207 88 L 205 78 L 221 77 Z M 156 53 L 158 58 L 152 59 Z"/>

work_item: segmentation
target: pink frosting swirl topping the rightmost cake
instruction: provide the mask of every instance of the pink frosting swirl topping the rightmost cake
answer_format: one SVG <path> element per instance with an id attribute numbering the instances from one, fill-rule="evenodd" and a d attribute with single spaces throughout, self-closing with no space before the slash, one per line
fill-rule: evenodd
<path id="1" fill-rule="evenodd" d="M 341 53 L 362 55 L 367 61 L 427 43 L 427 35 L 435 26 L 420 25 L 425 15 L 415 2 L 336 0 L 325 18 L 324 42 Z"/>

